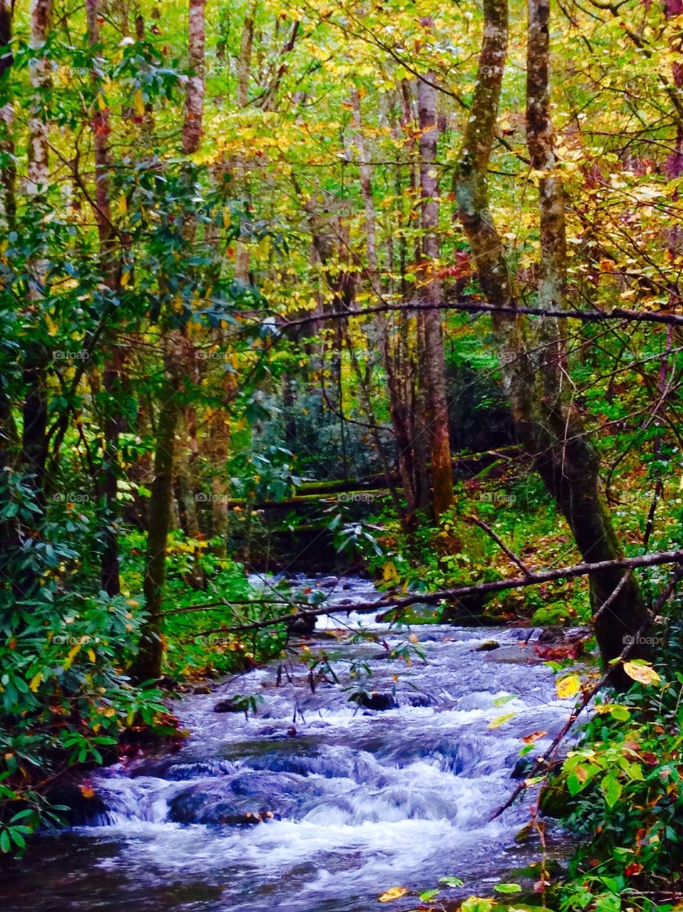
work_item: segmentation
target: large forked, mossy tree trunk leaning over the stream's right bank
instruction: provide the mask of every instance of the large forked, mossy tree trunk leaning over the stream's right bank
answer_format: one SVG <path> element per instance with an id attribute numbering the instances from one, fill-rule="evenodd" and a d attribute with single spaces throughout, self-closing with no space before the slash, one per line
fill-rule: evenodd
<path id="1" fill-rule="evenodd" d="M 552 154 L 547 102 L 548 13 L 546 0 L 530 2 L 530 151 L 533 156 L 545 156 L 547 164 L 549 149 Z M 502 241 L 489 212 L 487 186 L 507 47 L 507 16 L 506 0 L 484 0 L 477 86 L 457 164 L 455 190 L 482 291 L 490 304 L 514 307 Z M 539 294 L 546 302 L 558 302 L 558 295 L 559 301 L 564 297 L 564 204 L 559 185 L 553 182 L 554 175 L 544 177 L 551 182 L 544 184 L 540 203 L 544 267 Z M 544 193 L 549 193 L 549 197 Z M 527 342 L 527 327 L 521 316 L 496 316 L 493 329 L 501 355 L 503 386 L 511 401 L 518 436 L 533 455 L 579 550 L 591 562 L 620 557 L 621 549 L 600 488 L 597 454 L 588 441 L 570 391 L 562 386 L 564 347 L 559 331 L 552 324 L 544 327 L 547 344 L 542 346 L 539 359 L 534 357 L 535 345 Z M 647 620 L 647 611 L 632 581 L 601 613 L 601 606 L 613 595 L 622 575 L 607 571 L 592 578 L 595 634 L 605 663 L 620 655 L 625 637 L 632 636 Z M 647 650 L 639 649 L 636 654 L 642 656 Z M 612 680 L 616 686 L 627 686 L 626 676 L 619 669 Z"/>

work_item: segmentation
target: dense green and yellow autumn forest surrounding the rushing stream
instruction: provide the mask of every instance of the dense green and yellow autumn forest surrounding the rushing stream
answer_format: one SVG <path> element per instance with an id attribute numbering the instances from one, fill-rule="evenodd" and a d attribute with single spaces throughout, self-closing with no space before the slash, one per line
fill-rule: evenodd
<path id="1" fill-rule="evenodd" d="M 414 623 L 591 626 L 565 695 L 639 684 L 563 775 L 595 889 L 630 865 L 647 905 L 681 855 L 683 6 L 2 0 L 0 45 L 0 848 L 67 766 L 176 737 L 165 685 L 277 655 L 322 610 L 288 572 L 354 566 Z"/>

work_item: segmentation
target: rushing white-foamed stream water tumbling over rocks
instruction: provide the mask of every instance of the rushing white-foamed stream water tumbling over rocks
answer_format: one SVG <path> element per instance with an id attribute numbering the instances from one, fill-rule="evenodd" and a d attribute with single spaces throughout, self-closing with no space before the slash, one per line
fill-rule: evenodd
<path id="1" fill-rule="evenodd" d="M 334 653 L 338 684 L 312 689 L 293 655 L 279 676 L 274 663 L 184 697 L 173 708 L 191 732 L 181 750 L 92 774 L 88 825 L 41 837 L 9 865 L 0 908 L 374 912 L 391 886 L 460 876 L 468 892 L 490 890 L 526 864 L 514 837 L 529 803 L 489 818 L 516 784 L 523 736 L 547 732 L 535 741 L 543 751 L 569 712 L 550 669 L 526 660 L 539 631 L 414 627 L 424 659 L 407 665 L 389 656 L 405 630 L 349 608 L 373 594 L 366 580 L 339 580 L 338 613 L 306 640 Z M 338 628 L 373 639 L 332 637 Z M 490 640 L 499 648 L 478 649 Z M 361 686 L 349 678 L 354 659 L 388 709 L 348 700 Z M 255 717 L 214 711 L 254 693 Z M 406 896 L 391 908 L 417 904 Z"/>

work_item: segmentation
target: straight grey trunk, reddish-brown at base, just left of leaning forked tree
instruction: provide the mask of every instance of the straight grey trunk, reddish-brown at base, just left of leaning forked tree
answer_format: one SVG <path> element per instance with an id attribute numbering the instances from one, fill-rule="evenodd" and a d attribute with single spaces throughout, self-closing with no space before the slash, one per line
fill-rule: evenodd
<path id="1" fill-rule="evenodd" d="M 419 183 L 422 201 L 422 304 L 438 306 L 443 302 L 443 287 L 434 275 L 439 262 L 439 182 L 437 178 L 437 141 L 434 75 L 418 80 Z M 420 314 L 424 333 L 424 376 L 429 402 L 429 450 L 431 456 L 431 499 L 438 521 L 453 503 L 453 472 L 450 465 L 449 410 L 443 331 L 439 310 Z"/>

